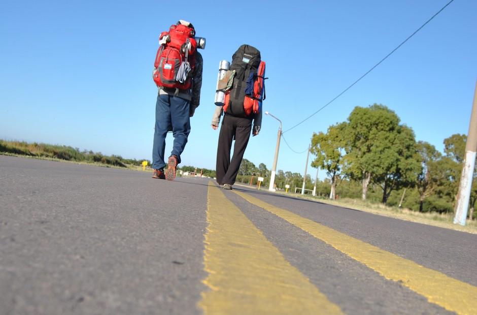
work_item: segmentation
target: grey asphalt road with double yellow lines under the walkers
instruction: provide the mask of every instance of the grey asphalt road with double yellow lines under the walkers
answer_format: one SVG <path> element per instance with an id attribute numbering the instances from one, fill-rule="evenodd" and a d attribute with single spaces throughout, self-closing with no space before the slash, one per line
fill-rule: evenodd
<path id="1" fill-rule="evenodd" d="M 477 235 L 0 155 L 0 314 L 477 313 Z"/>

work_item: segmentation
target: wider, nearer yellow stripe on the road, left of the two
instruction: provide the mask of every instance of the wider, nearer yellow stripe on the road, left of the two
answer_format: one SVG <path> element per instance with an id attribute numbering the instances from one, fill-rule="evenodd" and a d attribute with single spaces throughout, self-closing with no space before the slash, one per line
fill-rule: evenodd
<path id="1" fill-rule="evenodd" d="M 209 182 L 203 282 L 209 314 L 342 314 Z"/>

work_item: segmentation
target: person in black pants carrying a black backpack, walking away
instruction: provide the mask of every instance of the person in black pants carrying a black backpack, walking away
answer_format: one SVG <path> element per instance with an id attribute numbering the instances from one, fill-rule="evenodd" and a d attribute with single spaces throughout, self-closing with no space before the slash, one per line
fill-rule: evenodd
<path id="1" fill-rule="evenodd" d="M 242 45 L 233 54 L 230 70 L 225 75 L 224 80 L 231 84 L 224 84 L 227 85 L 224 105 L 217 106 L 212 118 L 212 128 L 217 130 L 220 117 L 224 114 L 217 147 L 216 178 L 225 190 L 231 190 L 235 183 L 250 132 L 256 136 L 261 129 L 264 72 L 265 62 L 261 61 L 260 51 Z M 230 159 L 233 140 L 233 156 Z"/>

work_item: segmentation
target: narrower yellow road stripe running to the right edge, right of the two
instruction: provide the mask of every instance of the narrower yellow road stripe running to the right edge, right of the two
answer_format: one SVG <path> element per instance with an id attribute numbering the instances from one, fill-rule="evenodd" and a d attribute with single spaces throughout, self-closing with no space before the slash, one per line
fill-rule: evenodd
<path id="1" fill-rule="evenodd" d="M 235 193 L 328 243 L 385 278 L 401 282 L 403 286 L 423 295 L 432 303 L 459 314 L 477 313 L 477 287 L 425 268 L 411 260 L 337 232 L 288 210 L 270 205 L 248 194 L 236 191 Z"/>

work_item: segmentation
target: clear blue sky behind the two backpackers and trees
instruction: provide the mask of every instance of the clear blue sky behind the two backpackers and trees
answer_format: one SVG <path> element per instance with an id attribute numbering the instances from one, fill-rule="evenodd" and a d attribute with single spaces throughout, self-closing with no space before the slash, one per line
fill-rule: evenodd
<path id="1" fill-rule="evenodd" d="M 200 107 L 183 165 L 215 168 L 210 127 L 219 61 L 241 44 L 267 62 L 263 106 L 283 129 L 315 112 L 411 35 L 448 0 L 16 1 L 0 6 L 0 138 L 151 160 L 158 36 L 179 19 L 207 38 Z M 285 133 L 304 151 L 313 132 L 381 103 L 439 150 L 467 133 L 477 78 L 477 2 L 455 0 L 378 68 Z M 279 124 L 263 117 L 245 158 L 271 168 Z M 166 154 L 173 137 L 166 139 Z M 278 169 L 303 173 L 306 153 L 282 140 Z M 310 159 L 310 163 L 311 163 Z M 308 173 L 316 171 L 309 167 Z M 323 172 L 322 172 L 323 173 Z M 323 178 L 324 174 L 320 174 Z"/>

